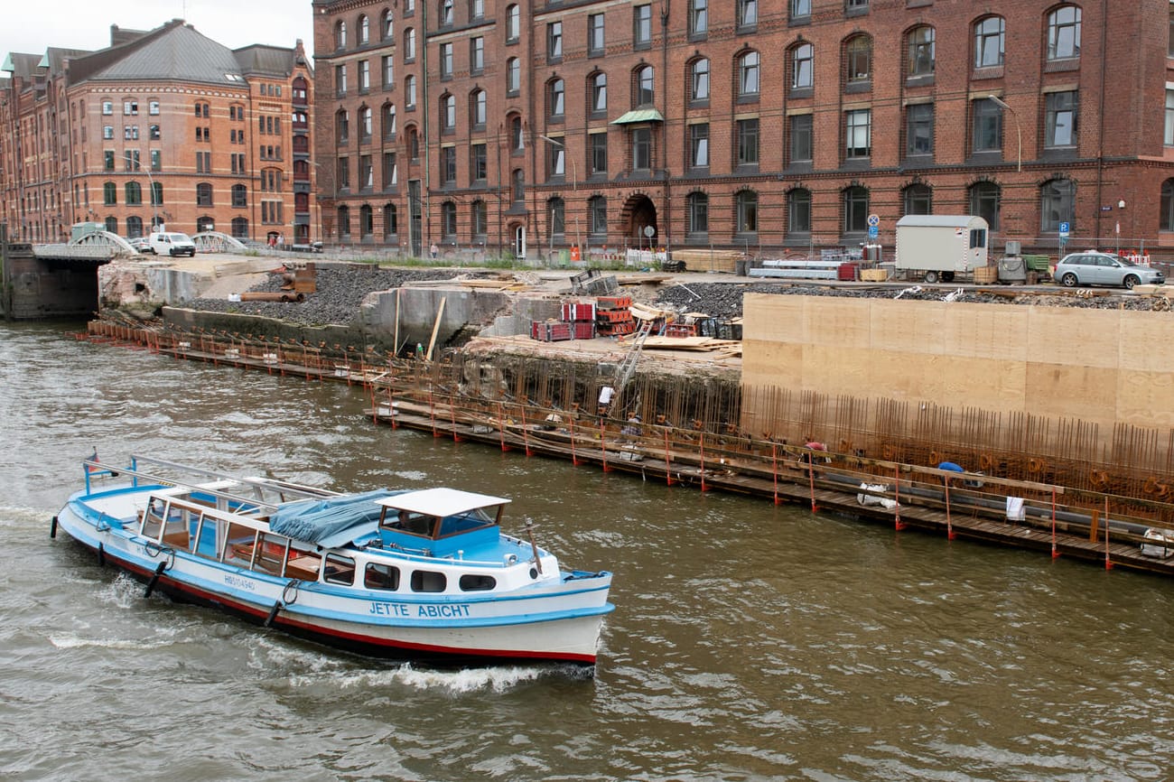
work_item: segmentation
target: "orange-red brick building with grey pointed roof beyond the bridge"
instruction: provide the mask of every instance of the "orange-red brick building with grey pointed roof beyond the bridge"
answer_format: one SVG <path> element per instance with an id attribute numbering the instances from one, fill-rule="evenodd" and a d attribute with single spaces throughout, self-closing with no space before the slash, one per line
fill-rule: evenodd
<path id="1" fill-rule="evenodd" d="M 97 52 L 9 54 L 0 81 L 0 220 L 12 241 L 96 222 L 242 240 L 316 238 L 313 70 L 294 48 L 228 49 L 182 20 L 112 27 Z"/>

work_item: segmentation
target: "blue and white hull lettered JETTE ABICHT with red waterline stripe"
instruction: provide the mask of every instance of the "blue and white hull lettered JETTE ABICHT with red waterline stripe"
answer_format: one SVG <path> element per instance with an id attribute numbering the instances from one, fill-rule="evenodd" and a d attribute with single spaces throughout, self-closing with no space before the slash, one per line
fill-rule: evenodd
<path id="1" fill-rule="evenodd" d="M 75 496 L 56 526 L 104 565 L 148 584 L 147 593 L 220 608 L 297 638 L 390 660 L 464 666 L 549 661 L 592 666 L 607 613 L 609 573 L 575 574 L 556 587 L 491 598 L 429 599 L 278 578 L 160 547 Z M 103 528 L 104 527 L 104 528 Z M 566 574 L 565 574 L 566 575 Z"/>

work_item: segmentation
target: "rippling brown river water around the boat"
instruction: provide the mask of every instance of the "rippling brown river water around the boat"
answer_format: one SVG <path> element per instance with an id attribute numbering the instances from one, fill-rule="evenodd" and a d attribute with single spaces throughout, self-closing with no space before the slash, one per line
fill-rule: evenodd
<path id="1" fill-rule="evenodd" d="M 376 426 L 357 387 L 0 324 L 0 778 L 1172 780 L 1174 582 Z M 131 453 L 514 501 L 615 573 L 594 677 L 143 598 L 49 519 Z"/>

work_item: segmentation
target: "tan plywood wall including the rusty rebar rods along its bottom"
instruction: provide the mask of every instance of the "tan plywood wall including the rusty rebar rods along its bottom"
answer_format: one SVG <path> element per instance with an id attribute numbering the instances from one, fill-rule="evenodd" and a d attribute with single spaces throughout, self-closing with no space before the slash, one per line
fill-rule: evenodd
<path id="1" fill-rule="evenodd" d="M 1051 425 L 1055 441 L 1031 447 L 1066 458 L 1113 457 L 1121 432 L 1138 427 L 1152 434 L 1141 439 L 1161 463 L 1155 468 L 1169 468 L 1174 314 L 754 294 L 744 314 L 747 432 L 799 438 L 838 426 L 856 434 L 841 439 L 875 446 L 903 434 L 883 420 L 885 404 L 896 404 L 904 436 L 924 431 L 918 419 L 929 411 L 926 436 L 959 444 L 980 436 L 985 446 L 1023 450 L 1024 422 L 1034 422 Z M 796 410 L 807 395 L 805 412 L 781 412 L 781 386 L 797 395 Z M 966 419 L 996 431 L 967 434 Z"/>

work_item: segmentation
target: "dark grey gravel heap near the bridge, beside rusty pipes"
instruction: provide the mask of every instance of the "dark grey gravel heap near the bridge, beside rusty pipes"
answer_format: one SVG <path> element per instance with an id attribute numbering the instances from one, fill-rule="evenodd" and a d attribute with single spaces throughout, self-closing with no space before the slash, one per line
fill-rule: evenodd
<path id="1" fill-rule="evenodd" d="M 358 315 L 363 297 L 372 291 L 391 290 L 409 282 L 452 279 L 457 276 L 468 276 L 468 272 L 452 269 L 414 271 L 377 267 L 319 267 L 318 290 L 306 294 L 304 302 L 230 302 L 224 298 L 196 298 L 187 306 L 208 312 L 261 315 L 301 325 L 346 324 Z M 281 292 L 283 284 L 283 275 L 270 274 L 264 282 L 249 290 Z"/>

